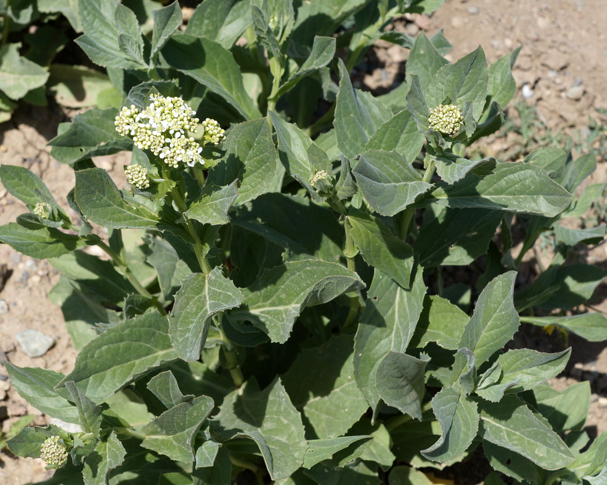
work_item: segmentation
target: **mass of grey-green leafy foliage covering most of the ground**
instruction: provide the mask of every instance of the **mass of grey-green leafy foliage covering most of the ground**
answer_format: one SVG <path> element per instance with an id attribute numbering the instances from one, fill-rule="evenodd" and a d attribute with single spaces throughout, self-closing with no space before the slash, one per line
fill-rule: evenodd
<path id="1" fill-rule="evenodd" d="M 25 19 L 23 3 L 10 15 Z M 50 296 L 80 349 L 67 375 L 5 363 L 32 406 L 83 428 L 7 441 L 38 458 L 58 437 L 69 457 L 46 483 L 426 485 L 428 469 L 480 444 L 517 482 L 604 483 L 605 435 L 584 431 L 588 383 L 548 383 L 570 350 L 512 343 L 521 322 L 607 339 L 605 316 L 564 313 L 606 276 L 569 250 L 605 237 L 576 222 L 605 190 L 577 190 L 594 154 L 541 147 L 509 162 L 473 146 L 504 121 L 518 50 L 449 62 L 441 32 L 384 30 L 441 0 L 205 0 L 185 32 L 177 2 L 50 3 L 39 10 L 82 32 L 121 105 L 179 96 L 205 125 L 183 133 L 200 144 L 194 167 L 171 167 L 135 146 L 136 119 L 115 130 L 115 108 L 61 124 L 49 145 L 75 170 L 73 212 L 29 170 L 0 169 L 27 207 L 0 241 L 61 273 Z M 378 97 L 350 75 L 380 38 L 411 52 L 405 82 Z M 3 52 L 7 95 L 44 82 L 15 45 Z M 430 128 L 438 104 L 461 112 L 458 129 Z M 225 141 L 205 132 L 211 119 Z M 95 166 L 121 150 L 149 187 Z M 543 232 L 555 256 L 530 281 L 518 264 Z"/>

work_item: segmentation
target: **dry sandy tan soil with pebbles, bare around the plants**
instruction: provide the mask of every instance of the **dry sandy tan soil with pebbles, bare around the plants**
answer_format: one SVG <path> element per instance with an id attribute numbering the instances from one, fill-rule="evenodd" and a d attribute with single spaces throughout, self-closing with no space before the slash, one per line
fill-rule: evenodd
<path id="1" fill-rule="evenodd" d="M 526 102 L 537 107 L 541 121 L 551 129 L 574 133 L 585 129 L 595 107 L 607 108 L 605 24 L 604 0 L 450 0 L 431 18 L 410 16 L 400 22 L 398 28 L 412 35 L 420 30 L 433 35 L 439 28 L 444 28 L 447 39 L 455 46 L 449 53 L 451 60 L 481 44 L 487 59 L 493 62 L 523 45 L 514 69 L 518 95 L 527 84 L 532 96 Z M 407 53 L 400 47 L 379 42 L 371 56 L 372 64 L 379 63 L 380 67 L 365 74 L 363 84 L 381 87 L 392 84 L 398 76 L 402 78 Z M 571 92 L 577 86 L 582 89 Z M 66 115 L 59 109 L 23 107 L 11 121 L 0 124 L 0 162 L 33 170 L 44 179 L 59 204 L 73 215 L 65 202 L 65 195 L 73 187 L 73 171 L 52 159 L 46 147 L 46 142 L 55 136 L 58 123 L 65 119 Z M 499 139 L 492 148 L 500 152 L 517 142 L 515 138 Z M 113 170 L 123 164 L 124 157 L 104 157 L 96 162 L 98 166 Z M 606 180 L 605 162 L 602 162 L 592 182 Z M 25 212 L 24 205 L 0 186 L 0 224 L 14 221 L 22 212 Z M 584 256 L 585 261 L 607 267 L 606 248 L 607 245 L 603 245 L 592 250 Z M 0 246 L 0 299 L 9 307 L 7 313 L 0 315 L 0 350 L 10 362 L 59 372 L 72 369 L 76 352 L 66 333 L 61 310 L 46 298 L 57 280 L 55 270 L 46 262 Z M 603 285 L 593 298 L 594 309 L 607 312 L 606 297 L 607 290 Z M 25 329 L 40 330 L 52 336 L 55 346 L 42 357 L 29 358 L 15 340 L 15 334 Z M 544 337 L 534 333 L 529 338 L 541 340 Z M 589 346 L 575 338 L 571 343 L 577 347 L 577 352 L 574 349 L 565 375 L 553 384 L 561 389 L 578 380 L 591 381 L 593 395 L 588 426 L 591 432 L 603 432 L 607 430 L 607 349 L 603 344 Z M 2 357 L 0 353 L 0 360 Z M 10 387 L 4 366 L 0 364 L 2 431 L 6 432 L 19 416 L 28 413 L 36 416 L 36 424 L 47 423 L 47 416 L 25 403 Z M 47 472 L 41 460 L 15 459 L 0 453 L 1 484 L 24 485 L 45 476 Z"/>

